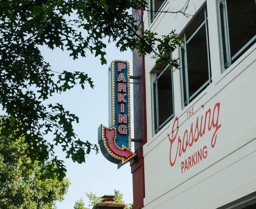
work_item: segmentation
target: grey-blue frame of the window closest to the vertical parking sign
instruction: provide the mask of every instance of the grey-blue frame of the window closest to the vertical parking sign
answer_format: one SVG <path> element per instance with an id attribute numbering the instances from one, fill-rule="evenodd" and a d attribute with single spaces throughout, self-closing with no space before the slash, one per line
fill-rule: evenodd
<path id="1" fill-rule="evenodd" d="M 157 70 L 155 68 L 152 69 L 151 74 L 154 75 L 153 81 L 152 81 L 152 124 L 153 124 L 153 130 L 154 134 L 158 133 L 163 126 L 165 126 L 172 118 L 174 118 L 174 90 L 173 90 L 173 69 L 168 69 L 170 64 L 167 64 L 164 66 L 163 70 L 159 75 L 157 75 Z M 159 124 L 159 111 L 158 111 L 158 85 L 157 81 L 159 78 L 165 73 L 167 70 L 171 71 L 171 94 L 172 94 L 172 114 L 161 124 Z"/>

